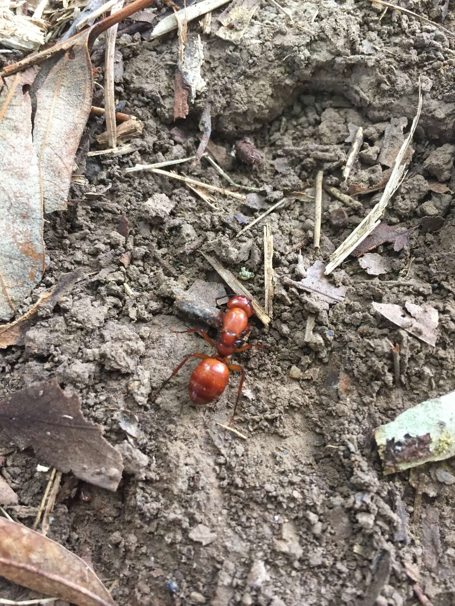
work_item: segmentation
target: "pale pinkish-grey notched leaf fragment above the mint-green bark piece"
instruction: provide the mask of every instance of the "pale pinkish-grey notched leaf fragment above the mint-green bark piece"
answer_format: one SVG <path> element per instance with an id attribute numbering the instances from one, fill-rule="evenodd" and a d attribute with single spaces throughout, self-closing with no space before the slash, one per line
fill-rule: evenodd
<path id="1" fill-rule="evenodd" d="M 385 318 L 408 331 L 410 335 L 433 347 L 436 345 L 439 316 L 431 305 L 416 305 L 406 301 L 405 308 L 410 316 L 400 305 L 373 302 L 372 306 Z"/>

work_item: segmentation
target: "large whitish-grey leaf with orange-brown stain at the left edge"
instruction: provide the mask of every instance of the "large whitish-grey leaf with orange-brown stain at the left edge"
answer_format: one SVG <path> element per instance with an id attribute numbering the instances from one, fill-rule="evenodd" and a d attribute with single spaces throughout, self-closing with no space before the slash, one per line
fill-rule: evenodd
<path id="1" fill-rule="evenodd" d="M 32 103 L 26 87 L 35 70 L 0 81 L 0 319 L 15 313 L 45 270 L 38 161 Z"/>

